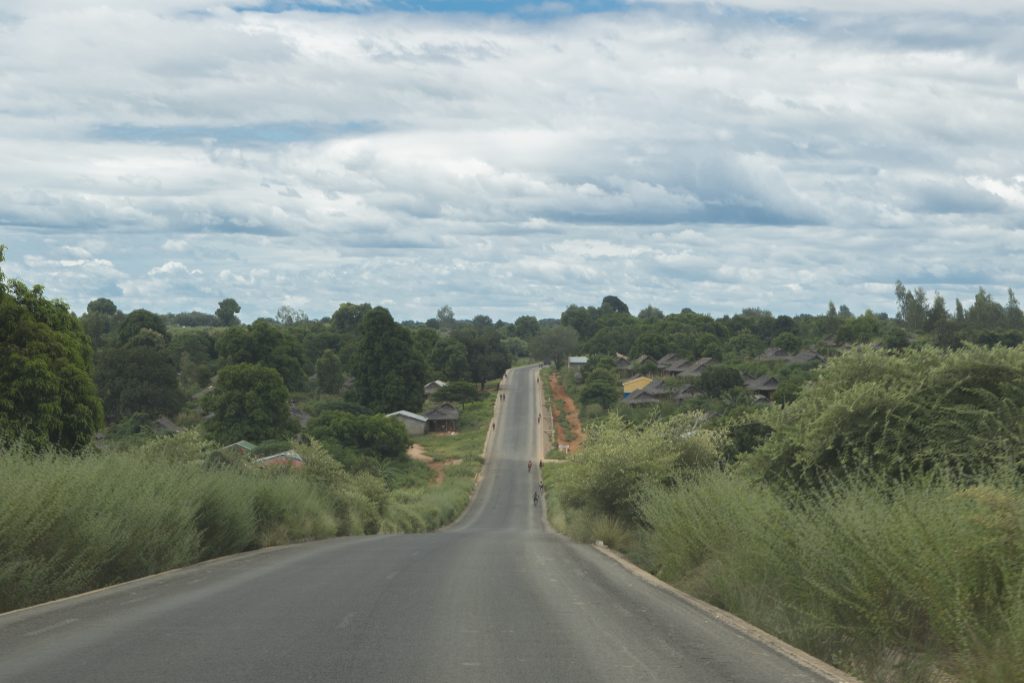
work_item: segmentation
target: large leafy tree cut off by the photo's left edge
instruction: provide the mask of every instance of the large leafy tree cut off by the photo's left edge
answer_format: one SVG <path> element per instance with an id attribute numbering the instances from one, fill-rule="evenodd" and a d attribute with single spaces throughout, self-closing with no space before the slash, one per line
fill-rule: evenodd
<path id="1" fill-rule="evenodd" d="M 87 444 L 103 422 L 91 361 L 89 338 L 67 304 L 0 270 L 0 441 Z"/>

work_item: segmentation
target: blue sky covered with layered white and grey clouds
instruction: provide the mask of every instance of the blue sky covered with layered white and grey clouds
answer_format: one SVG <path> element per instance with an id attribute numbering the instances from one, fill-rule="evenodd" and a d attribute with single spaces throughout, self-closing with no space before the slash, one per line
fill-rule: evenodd
<path id="1" fill-rule="evenodd" d="M 82 312 L 1024 290 L 1020 0 L 3 0 L 0 244 Z"/>

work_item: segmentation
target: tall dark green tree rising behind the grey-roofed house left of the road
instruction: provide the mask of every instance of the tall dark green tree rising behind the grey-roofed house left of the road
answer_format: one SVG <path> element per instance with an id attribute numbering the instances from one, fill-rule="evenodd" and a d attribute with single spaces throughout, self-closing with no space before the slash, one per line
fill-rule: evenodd
<path id="1" fill-rule="evenodd" d="M 353 376 L 357 400 L 378 413 L 423 405 L 426 364 L 409 330 L 377 306 L 359 324 Z"/>

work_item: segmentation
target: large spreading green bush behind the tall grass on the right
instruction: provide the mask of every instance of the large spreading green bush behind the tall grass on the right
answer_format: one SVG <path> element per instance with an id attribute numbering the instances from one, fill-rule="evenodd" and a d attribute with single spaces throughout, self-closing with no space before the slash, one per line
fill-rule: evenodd
<path id="1" fill-rule="evenodd" d="M 869 470 L 978 476 L 1024 451 L 1024 348 L 860 348 L 829 361 L 746 464 L 756 476 L 820 483 Z"/>

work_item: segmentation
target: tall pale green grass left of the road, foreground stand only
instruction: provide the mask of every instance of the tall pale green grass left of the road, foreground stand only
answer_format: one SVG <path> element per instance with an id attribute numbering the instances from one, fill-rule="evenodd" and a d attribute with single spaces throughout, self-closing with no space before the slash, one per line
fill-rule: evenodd
<path id="1" fill-rule="evenodd" d="M 79 458 L 0 452 L 0 611 L 338 530 L 309 480 L 209 470 L 179 457 L 188 438 Z"/>

